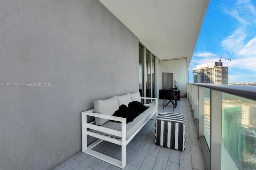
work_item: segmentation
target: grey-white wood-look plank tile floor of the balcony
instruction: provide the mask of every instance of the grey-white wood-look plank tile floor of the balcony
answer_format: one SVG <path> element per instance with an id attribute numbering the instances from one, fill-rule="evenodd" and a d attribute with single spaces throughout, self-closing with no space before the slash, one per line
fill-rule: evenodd
<path id="1" fill-rule="evenodd" d="M 188 99 L 178 101 L 173 111 L 170 103 L 163 109 L 163 100 L 158 100 L 158 112 L 182 113 L 186 121 L 186 148 L 184 151 L 155 145 L 155 121 L 150 120 L 127 145 L 125 170 L 206 170 L 198 134 L 194 125 Z M 121 147 L 110 142 L 102 142 L 95 150 L 120 159 Z M 116 166 L 79 152 L 72 158 L 56 166 L 54 170 L 117 170 Z"/>

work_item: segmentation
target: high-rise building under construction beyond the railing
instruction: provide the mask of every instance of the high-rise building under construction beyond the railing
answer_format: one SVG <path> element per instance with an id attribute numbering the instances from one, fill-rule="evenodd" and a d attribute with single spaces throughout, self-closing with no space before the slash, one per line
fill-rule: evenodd
<path id="1" fill-rule="evenodd" d="M 193 76 L 194 83 L 228 84 L 228 67 L 222 62 L 196 65 Z"/>

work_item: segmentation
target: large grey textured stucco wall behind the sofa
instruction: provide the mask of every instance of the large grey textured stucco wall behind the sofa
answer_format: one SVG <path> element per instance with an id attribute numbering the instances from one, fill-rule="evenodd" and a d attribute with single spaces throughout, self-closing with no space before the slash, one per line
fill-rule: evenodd
<path id="1" fill-rule="evenodd" d="M 0 1 L 0 169 L 81 151 L 81 112 L 138 91 L 138 38 L 99 1 Z"/>

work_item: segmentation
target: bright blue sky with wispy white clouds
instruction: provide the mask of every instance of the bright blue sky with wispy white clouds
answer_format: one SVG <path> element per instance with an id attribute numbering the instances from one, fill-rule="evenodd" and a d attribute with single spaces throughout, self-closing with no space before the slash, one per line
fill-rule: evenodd
<path id="1" fill-rule="evenodd" d="M 228 82 L 256 82 L 256 0 L 210 0 L 189 67 L 222 59 Z"/>

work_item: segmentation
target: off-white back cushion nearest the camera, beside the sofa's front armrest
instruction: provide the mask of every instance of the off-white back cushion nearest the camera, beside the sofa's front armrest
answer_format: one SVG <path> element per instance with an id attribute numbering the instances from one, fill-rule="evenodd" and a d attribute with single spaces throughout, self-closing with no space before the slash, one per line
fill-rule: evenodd
<path id="1" fill-rule="evenodd" d="M 112 116 L 115 113 L 115 111 L 117 111 L 119 108 L 118 99 L 116 96 L 111 97 L 109 99 L 105 99 L 105 100 L 94 101 L 93 104 L 94 104 L 95 113 L 100 113 L 100 114 L 110 115 L 110 116 Z M 109 119 L 95 117 L 96 125 L 103 125 L 107 121 L 109 121 Z"/>

